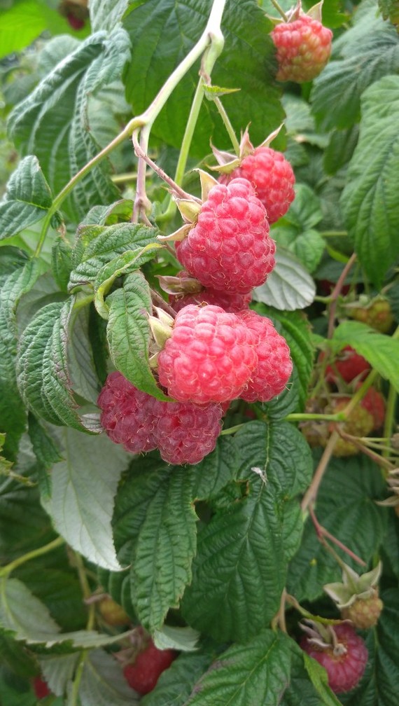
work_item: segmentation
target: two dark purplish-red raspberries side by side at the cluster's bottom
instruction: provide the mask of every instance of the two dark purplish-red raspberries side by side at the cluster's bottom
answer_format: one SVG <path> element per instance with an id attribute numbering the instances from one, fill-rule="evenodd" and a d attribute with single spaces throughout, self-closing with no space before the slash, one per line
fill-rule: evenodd
<path id="1" fill-rule="evenodd" d="M 164 461 L 198 463 L 213 451 L 222 429 L 220 405 L 162 402 L 137 390 L 119 372 L 107 377 L 97 401 L 109 438 L 126 451 L 159 448 Z"/>

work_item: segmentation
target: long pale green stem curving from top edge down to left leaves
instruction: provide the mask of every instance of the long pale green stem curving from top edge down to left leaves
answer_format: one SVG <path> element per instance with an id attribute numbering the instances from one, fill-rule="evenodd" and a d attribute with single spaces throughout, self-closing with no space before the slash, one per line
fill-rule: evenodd
<path id="1" fill-rule="evenodd" d="M 155 118 L 157 117 L 157 115 L 160 114 L 160 111 L 164 107 L 165 103 L 167 102 L 167 99 L 171 95 L 174 88 L 176 88 L 181 78 L 183 78 L 183 76 L 185 76 L 191 66 L 195 64 L 197 59 L 199 59 L 201 54 L 203 54 L 206 47 L 208 47 L 210 43 L 211 46 L 214 45 L 214 51 L 218 51 L 220 54 L 220 49 L 218 49 L 218 47 L 220 47 L 220 43 L 223 42 L 223 35 L 220 30 L 220 22 L 222 20 L 223 11 L 225 9 L 225 3 L 226 0 L 213 1 L 213 6 L 210 11 L 208 23 L 198 42 L 191 49 L 191 52 L 189 52 L 189 54 L 187 54 L 187 56 L 183 59 L 183 61 L 181 61 L 179 66 L 174 69 L 169 78 L 167 78 L 164 85 L 155 96 L 153 102 L 145 110 L 145 112 L 143 112 L 143 114 L 139 116 L 133 117 L 131 121 L 129 121 L 129 123 L 126 125 L 124 130 L 122 130 L 121 133 L 119 133 L 119 135 L 109 143 L 109 145 L 107 145 L 103 150 L 101 150 L 97 155 L 95 155 L 95 157 L 93 157 L 90 162 L 85 164 L 85 166 L 80 169 L 80 171 L 75 174 L 74 177 L 72 177 L 68 184 L 64 186 L 64 189 L 61 189 L 59 194 L 57 194 L 57 196 L 54 198 L 52 206 L 51 208 L 49 208 L 49 211 L 47 212 L 47 215 L 44 218 L 42 232 L 40 234 L 40 239 L 35 251 L 36 257 L 40 254 L 40 251 L 42 250 L 44 239 L 46 237 L 47 230 L 49 229 L 52 216 L 54 215 L 54 213 L 56 213 L 56 210 L 58 210 L 59 206 L 61 205 L 61 203 L 63 203 L 69 193 L 71 193 L 73 187 L 78 184 L 78 181 L 81 181 L 81 179 L 83 179 L 83 177 L 85 177 L 85 175 L 88 174 L 88 172 L 90 172 L 90 170 L 93 169 L 96 164 L 98 164 L 105 157 L 107 157 L 107 155 L 109 155 L 112 150 L 114 150 L 118 145 L 120 145 L 124 141 L 124 139 L 130 138 L 134 130 L 136 130 L 137 128 L 141 128 L 145 125 L 153 125 Z"/>

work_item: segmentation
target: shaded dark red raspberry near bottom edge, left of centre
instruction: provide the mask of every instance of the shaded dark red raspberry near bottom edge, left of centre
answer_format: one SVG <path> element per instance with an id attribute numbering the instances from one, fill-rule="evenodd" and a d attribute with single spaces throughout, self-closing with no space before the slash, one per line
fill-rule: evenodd
<path id="1" fill-rule="evenodd" d="M 150 693 L 162 674 L 177 657 L 174 650 L 158 650 L 153 640 L 143 652 L 139 652 L 133 664 L 126 664 L 124 676 L 132 689 L 139 694 Z"/>

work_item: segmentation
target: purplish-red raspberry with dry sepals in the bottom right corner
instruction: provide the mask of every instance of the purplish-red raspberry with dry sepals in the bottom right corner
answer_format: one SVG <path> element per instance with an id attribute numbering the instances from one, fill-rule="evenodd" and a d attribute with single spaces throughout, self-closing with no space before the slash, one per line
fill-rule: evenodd
<path id="1" fill-rule="evenodd" d="M 347 623 L 334 626 L 334 632 L 338 638 L 336 647 L 319 647 L 307 637 L 302 638 L 300 645 L 326 669 L 328 686 L 340 694 L 357 686 L 366 668 L 368 652 L 362 638 Z"/>

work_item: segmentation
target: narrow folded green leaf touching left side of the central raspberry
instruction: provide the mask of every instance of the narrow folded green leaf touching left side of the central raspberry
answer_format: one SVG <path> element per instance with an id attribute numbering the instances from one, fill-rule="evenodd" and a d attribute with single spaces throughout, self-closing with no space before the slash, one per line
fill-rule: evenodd
<path id="1" fill-rule="evenodd" d="M 148 347 L 152 311 L 150 288 L 140 272 L 127 275 L 124 286 L 109 295 L 107 340 L 114 366 L 139 390 L 157 397 L 168 398 L 158 388 L 150 370 Z"/>

